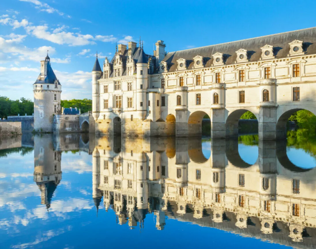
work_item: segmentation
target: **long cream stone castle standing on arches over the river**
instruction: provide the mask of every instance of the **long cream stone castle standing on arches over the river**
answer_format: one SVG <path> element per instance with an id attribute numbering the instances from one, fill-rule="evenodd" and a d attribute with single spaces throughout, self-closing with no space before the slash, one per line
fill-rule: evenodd
<path id="1" fill-rule="evenodd" d="M 286 137 L 299 109 L 316 113 L 316 28 L 166 53 L 119 44 L 112 60 L 92 70 L 95 131 L 99 134 L 178 137 L 238 136 L 246 111 L 258 119 L 259 138 Z"/>

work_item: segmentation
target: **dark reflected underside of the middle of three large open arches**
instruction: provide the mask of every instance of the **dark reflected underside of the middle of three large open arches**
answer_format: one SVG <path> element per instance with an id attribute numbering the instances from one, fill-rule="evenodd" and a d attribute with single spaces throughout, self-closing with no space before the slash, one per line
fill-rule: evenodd
<path id="1" fill-rule="evenodd" d="M 237 138 L 232 138 L 232 139 L 228 139 L 226 140 L 226 148 L 225 148 L 225 153 L 226 153 L 226 158 L 228 159 L 228 161 L 239 168 L 248 168 L 251 167 L 253 164 L 249 164 L 247 162 L 245 162 L 239 154 L 238 151 L 238 139 Z M 258 162 L 255 162 L 255 164 Z"/>

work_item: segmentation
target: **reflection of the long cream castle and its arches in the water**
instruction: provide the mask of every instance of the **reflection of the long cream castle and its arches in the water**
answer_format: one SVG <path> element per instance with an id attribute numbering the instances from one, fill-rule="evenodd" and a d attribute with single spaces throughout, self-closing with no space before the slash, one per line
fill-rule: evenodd
<path id="1" fill-rule="evenodd" d="M 212 141 L 206 159 L 200 139 L 120 139 L 103 137 L 93 152 L 94 202 L 98 208 L 103 196 L 119 224 L 143 226 L 153 212 L 157 229 L 167 215 L 314 248 L 316 169 L 291 164 L 283 142 L 260 141 L 258 160 L 249 165 L 236 140 Z"/>

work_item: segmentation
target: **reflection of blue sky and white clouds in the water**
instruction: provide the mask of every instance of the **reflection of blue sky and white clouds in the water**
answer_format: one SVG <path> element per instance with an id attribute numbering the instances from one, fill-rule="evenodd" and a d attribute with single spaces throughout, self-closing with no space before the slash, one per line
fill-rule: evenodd
<path id="1" fill-rule="evenodd" d="M 202 144 L 206 158 L 210 158 L 210 146 L 210 141 Z M 239 152 L 250 164 L 258 158 L 258 146 L 240 144 Z M 139 248 L 157 242 L 164 248 L 286 248 L 167 217 L 165 229 L 159 231 L 153 214 L 146 216 L 144 229 L 131 230 L 127 224 L 118 225 L 115 213 L 105 212 L 102 202 L 97 217 L 91 195 L 92 156 L 84 152 L 62 153 L 62 180 L 47 212 L 33 182 L 33 152 L 0 160 L 0 248 Z"/>

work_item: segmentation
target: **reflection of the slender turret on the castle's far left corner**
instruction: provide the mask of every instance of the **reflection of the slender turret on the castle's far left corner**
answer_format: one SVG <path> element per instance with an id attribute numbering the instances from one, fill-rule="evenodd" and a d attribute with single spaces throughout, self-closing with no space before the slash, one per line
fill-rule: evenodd
<path id="1" fill-rule="evenodd" d="M 97 148 L 92 153 L 92 197 L 94 205 L 97 208 L 97 214 L 102 198 L 102 193 L 99 190 L 100 184 L 100 165 L 99 165 L 100 154 Z"/>

